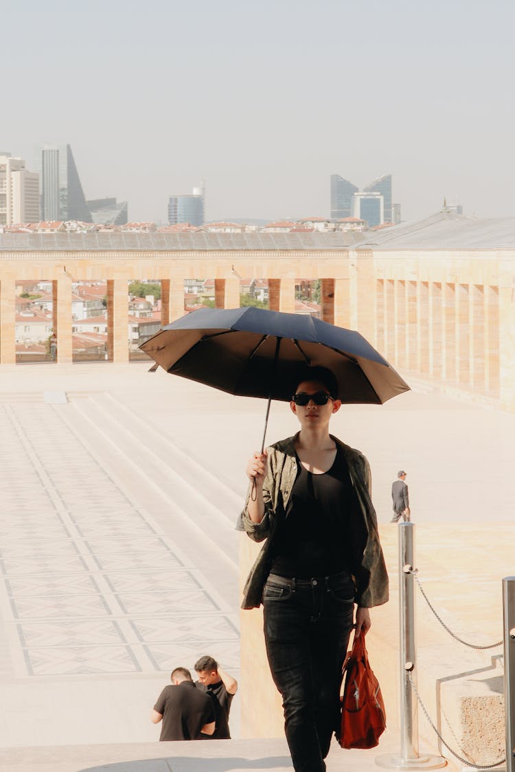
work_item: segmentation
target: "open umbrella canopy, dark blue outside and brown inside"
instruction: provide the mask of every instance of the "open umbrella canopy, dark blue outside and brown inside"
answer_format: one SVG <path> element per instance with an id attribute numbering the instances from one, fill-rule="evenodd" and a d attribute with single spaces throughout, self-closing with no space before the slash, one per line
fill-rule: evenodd
<path id="1" fill-rule="evenodd" d="M 252 306 L 193 311 L 140 348 L 169 373 L 246 397 L 290 401 L 307 365 L 334 373 L 342 402 L 380 405 L 409 390 L 361 334 Z"/>

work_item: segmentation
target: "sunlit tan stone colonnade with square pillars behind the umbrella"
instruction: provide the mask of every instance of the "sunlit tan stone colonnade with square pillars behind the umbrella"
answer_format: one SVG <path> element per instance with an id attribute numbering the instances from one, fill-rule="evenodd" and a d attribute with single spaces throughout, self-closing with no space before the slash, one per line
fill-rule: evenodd
<path id="1" fill-rule="evenodd" d="M 58 361 L 72 361 L 72 283 L 107 283 L 107 358 L 128 361 L 127 284 L 161 281 L 161 321 L 184 313 L 184 280 L 215 279 L 239 305 L 239 276 L 267 279 L 269 307 L 294 310 L 296 279 L 321 279 L 321 314 L 357 329 L 394 367 L 515 409 L 515 252 L 354 249 L 277 252 L 0 252 L 0 363 L 15 362 L 15 281 L 51 280 Z"/>

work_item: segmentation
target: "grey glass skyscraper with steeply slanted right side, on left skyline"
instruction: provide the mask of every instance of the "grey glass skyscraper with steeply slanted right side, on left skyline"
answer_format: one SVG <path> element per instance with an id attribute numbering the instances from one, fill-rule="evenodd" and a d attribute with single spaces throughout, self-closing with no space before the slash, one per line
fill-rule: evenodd
<path id="1" fill-rule="evenodd" d="M 43 220 L 90 221 L 90 211 L 69 144 L 42 148 L 40 195 Z"/>

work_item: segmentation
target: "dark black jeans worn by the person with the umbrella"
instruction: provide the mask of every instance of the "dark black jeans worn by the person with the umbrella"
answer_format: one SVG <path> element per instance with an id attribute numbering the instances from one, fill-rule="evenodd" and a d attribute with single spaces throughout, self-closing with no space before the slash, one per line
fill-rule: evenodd
<path id="1" fill-rule="evenodd" d="M 296 772 L 324 772 L 339 728 L 341 667 L 354 614 L 346 572 L 295 580 L 270 574 L 263 590 L 266 653 L 283 696 L 284 728 Z"/>

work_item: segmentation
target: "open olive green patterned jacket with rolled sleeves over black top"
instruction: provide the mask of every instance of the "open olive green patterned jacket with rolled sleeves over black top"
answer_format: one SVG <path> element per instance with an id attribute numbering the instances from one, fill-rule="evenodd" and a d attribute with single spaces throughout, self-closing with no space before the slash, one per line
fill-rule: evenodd
<path id="1" fill-rule="evenodd" d="M 242 608 L 259 608 L 263 587 L 270 569 L 270 555 L 280 516 L 286 511 L 298 466 L 294 449 L 296 437 L 276 442 L 268 450 L 268 466 L 263 483 L 265 514 L 260 523 L 252 523 L 247 512 L 250 489 L 245 507 L 239 518 L 239 530 L 245 530 L 253 541 L 266 540 L 252 566 L 243 588 Z M 362 516 L 368 533 L 361 560 L 353 571 L 356 587 L 356 602 L 359 606 L 371 608 L 388 601 L 388 574 L 378 535 L 378 522 L 371 501 L 371 472 L 364 455 L 344 445 L 336 437 L 334 442 L 344 452 L 345 460 L 354 487 L 355 515 Z"/>

